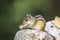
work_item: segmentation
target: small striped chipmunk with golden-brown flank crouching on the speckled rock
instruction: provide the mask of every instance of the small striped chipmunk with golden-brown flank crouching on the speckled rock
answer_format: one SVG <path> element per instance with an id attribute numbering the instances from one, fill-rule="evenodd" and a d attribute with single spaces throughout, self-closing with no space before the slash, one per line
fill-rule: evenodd
<path id="1" fill-rule="evenodd" d="M 20 29 L 31 28 L 43 31 L 45 28 L 45 20 L 41 15 L 36 15 L 35 17 L 27 14 L 23 23 L 19 26 Z"/>

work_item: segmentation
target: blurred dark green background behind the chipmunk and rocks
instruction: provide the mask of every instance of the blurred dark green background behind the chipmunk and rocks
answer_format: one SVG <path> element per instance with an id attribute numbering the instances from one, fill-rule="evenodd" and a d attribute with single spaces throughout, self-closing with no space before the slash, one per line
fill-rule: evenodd
<path id="1" fill-rule="evenodd" d="M 52 20 L 60 16 L 60 0 L 0 0 L 0 40 L 14 40 L 27 13 Z"/>

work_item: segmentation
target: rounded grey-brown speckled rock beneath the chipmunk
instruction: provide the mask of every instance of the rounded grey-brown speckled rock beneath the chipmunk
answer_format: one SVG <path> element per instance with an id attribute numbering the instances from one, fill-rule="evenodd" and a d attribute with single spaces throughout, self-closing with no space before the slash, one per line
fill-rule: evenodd
<path id="1" fill-rule="evenodd" d="M 53 36 L 43 31 L 24 29 L 19 30 L 14 40 L 54 40 Z"/>

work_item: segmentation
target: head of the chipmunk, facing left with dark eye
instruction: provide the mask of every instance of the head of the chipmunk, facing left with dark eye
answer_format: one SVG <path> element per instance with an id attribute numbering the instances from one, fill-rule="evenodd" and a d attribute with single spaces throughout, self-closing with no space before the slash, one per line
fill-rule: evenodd
<path id="1" fill-rule="evenodd" d="M 19 27 L 20 29 L 31 28 L 35 23 L 35 18 L 31 14 L 27 14 L 24 18 L 23 24 Z"/>

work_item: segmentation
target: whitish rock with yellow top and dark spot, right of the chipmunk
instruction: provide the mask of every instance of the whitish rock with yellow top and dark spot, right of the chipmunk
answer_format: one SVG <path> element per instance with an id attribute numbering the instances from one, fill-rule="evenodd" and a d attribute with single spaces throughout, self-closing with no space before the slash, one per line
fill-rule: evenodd
<path id="1" fill-rule="evenodd" d="M 55 40 L 60 40 L 60 17 L 56 16 L 53 20 L 46 22 L 45 31 Z"/>

